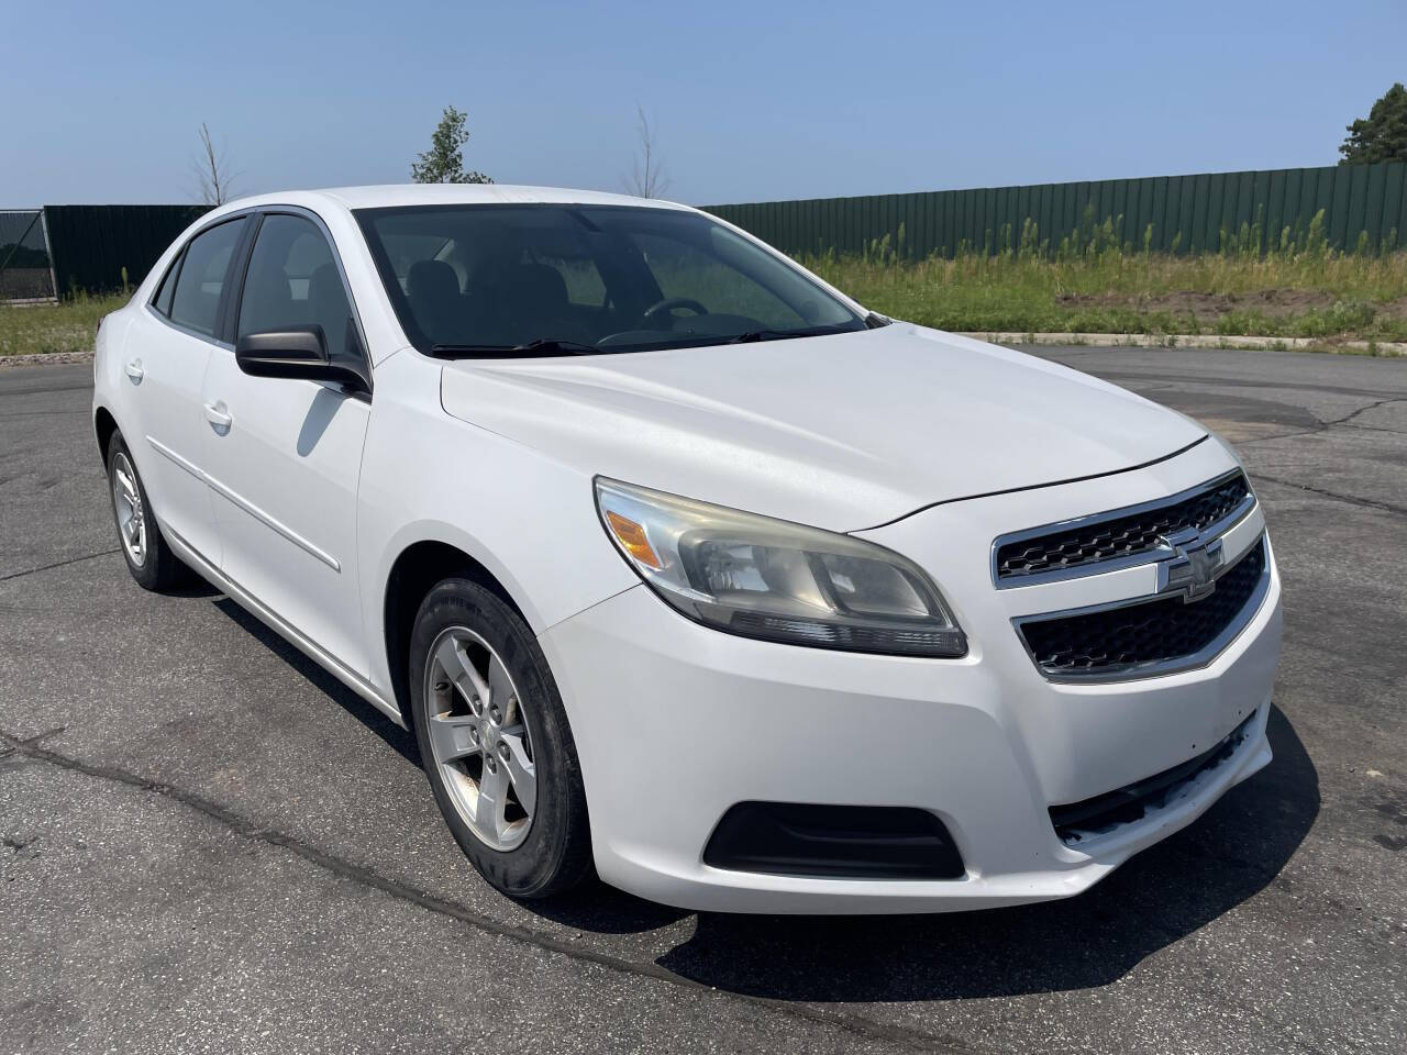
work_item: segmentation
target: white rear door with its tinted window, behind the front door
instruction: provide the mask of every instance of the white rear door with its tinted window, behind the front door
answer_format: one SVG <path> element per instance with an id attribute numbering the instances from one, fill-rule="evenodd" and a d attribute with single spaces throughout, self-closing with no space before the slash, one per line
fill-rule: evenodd
<path id="1" fill-rule="evenodd" d="M 158 523 L 218 567 L 219 542 L 203 475 L 208 425 L 201 390 L 246 217 L 197 234 L 170 266 L 122 364 L 131 411 L 128 447 L 146 482 Z M 221 349 L 229 354 L 228 346 Z"/>

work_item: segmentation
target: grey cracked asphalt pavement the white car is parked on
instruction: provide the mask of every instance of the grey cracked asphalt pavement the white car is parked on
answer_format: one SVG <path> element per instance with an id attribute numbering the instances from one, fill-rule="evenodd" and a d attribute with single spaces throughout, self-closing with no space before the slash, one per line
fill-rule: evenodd
<path id="1" fill-rule="evenodd" d="M 1038 353 L 1245 457 L 1275 761 L 1079 897 L 902 919 L 494 893 L 409 736 L 131 581 L 90 369 L 0 370 L 0 1049 L 1407 1049 L 1407 362 Z"/>

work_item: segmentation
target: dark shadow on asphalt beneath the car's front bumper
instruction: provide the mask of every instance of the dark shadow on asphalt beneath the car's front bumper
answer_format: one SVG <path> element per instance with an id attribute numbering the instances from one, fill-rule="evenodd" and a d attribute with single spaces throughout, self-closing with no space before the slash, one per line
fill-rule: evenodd
<path id="1" fill-rule="evenodd" d="M 1275 761 L 1192 826 L 1078 897 L 938 916 L 704 913 L 658 958 L 689 980 L 774 1000 L 893 1002 L 1103 986 L 1268 885 L 1318 814 L 1318 774 L 1272 708 Z"/>

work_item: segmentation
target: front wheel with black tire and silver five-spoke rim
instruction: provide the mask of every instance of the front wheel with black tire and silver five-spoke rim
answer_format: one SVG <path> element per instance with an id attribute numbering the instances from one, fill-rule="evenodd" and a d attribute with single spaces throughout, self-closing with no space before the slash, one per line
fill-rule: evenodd
<path id="1" fill-rule="evenodd" d="M 411 636 L 421 761 L 454 840 L 511 897 L 550 897 L 591 869 L 577 746 L 532 630 L 492 591 L 436 585 Z"/>

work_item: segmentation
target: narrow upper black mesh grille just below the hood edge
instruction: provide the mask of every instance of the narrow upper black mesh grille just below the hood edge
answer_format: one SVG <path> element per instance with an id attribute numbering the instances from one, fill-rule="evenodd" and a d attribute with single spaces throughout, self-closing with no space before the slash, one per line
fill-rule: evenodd
<path id="1" fill-rule="evenodd" d="M 1238 471 L 1204 484 L 1192 495 L 1141 506 L 1137 512 L 1116 511 L 1048 533 L 1021 532 L 1026 537 L 998 544 L 996 578 L 1019 580 L 1150 553 L 1162 546 L 1162 536 L 1189 528 L 1204 532 L 1249 505 L 1249 497 L 1251 487 Z"/>

